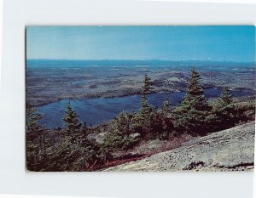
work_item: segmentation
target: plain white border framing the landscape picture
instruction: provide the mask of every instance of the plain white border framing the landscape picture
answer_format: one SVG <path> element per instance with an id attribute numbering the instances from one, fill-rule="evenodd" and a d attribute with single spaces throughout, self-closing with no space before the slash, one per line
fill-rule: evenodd
<path id="1" fill-rule="evenodd" d="M 6 0 L 0 97 L 0 194 L 251 198 L 253 173 L 26 173 L 26 25 L 253 25 L 253 4 Z"/>

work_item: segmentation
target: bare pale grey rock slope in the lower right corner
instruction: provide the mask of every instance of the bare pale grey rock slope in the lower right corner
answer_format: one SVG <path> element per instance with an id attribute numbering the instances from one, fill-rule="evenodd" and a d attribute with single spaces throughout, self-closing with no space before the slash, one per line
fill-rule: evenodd
<path id="1" fill-rule="evenodd" d="M 181 147 L 103 171 L 240 171 L 253 169 L 255 122 L 192 139 Z"/>

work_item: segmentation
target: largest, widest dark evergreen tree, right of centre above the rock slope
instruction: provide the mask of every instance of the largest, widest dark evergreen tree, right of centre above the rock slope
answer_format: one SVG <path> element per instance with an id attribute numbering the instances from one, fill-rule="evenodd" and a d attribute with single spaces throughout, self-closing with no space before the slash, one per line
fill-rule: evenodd
<path id="1" fill-rule="evenodd" d="M 204 135 L 212 119 L 210 110 L 201 86 L 201 77 L 192 69 L 187 93 L 181 105 L 172 112 L 174 126 L 180 132 Z"/>

